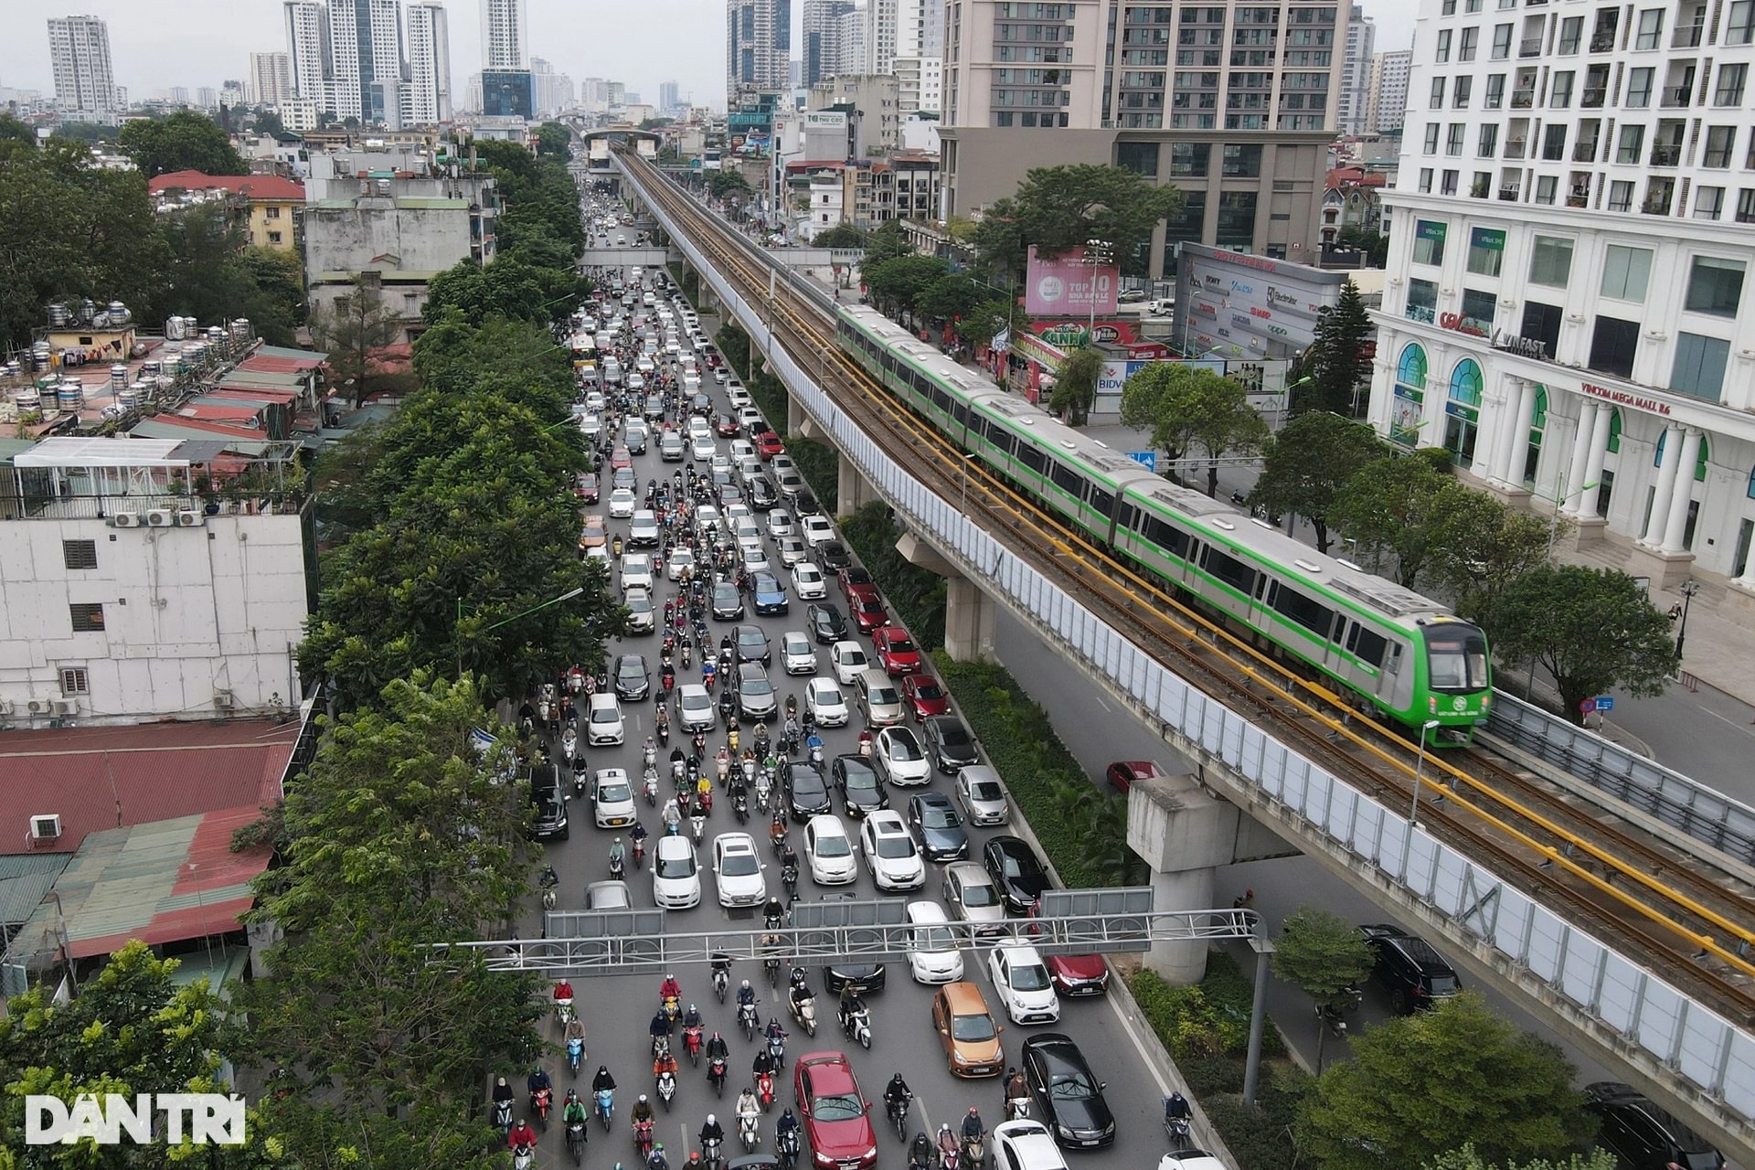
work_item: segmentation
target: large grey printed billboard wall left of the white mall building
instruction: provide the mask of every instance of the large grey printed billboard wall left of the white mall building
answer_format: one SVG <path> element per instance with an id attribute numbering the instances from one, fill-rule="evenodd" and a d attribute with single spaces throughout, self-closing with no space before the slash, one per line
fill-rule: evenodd
<path id="1" fill-rule="evenodd" d="M 1186 353 L 1290 358 L 1316 340 L 1318 314 L 1343 284 L 1344 272 L 1183 244 L 1172 337 Z"/>

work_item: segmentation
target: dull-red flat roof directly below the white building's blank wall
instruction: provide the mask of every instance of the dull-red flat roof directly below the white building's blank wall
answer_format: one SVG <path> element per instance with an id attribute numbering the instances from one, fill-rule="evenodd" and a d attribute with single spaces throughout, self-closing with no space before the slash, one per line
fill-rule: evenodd
<path id="1" fill-rule="evenodd" d="M 272 803 L 297 740 L 297 721 L 258 719 L 7 731 L 0 851 L 72 853 L 98 830 Z M 47 814 L 61 835 L 33 842 L 30 817 Z"/>

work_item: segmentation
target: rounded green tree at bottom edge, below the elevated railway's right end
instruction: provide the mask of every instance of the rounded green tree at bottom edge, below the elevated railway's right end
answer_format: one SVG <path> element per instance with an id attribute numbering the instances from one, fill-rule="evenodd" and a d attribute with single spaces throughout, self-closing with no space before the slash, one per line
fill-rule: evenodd
<path id="1" fill-rule="evenodd" d="M 1400 1170 L 1474 1142 L 1486 1161 L 1565 1158 L 1592 1131 L 1572 1065 L 1472 991 L 1353 1038 L 1299 1116 L 1322 1170 Z"/>

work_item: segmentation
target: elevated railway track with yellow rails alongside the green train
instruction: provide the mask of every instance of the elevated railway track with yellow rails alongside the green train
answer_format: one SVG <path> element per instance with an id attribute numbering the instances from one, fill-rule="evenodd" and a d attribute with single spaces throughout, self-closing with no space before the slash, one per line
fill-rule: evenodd
<path id="1" fill-rule="evenodd" d="M 1490 861 L 1527 895 L 1565 905 L 1581 926 L 1643 956 L 1729 1019 L 1755 1023 L 1755 902 L 1709 853 L 1683 853 L 1637 824 L 1580 807 L 1485 749 L 1420 753 L 1399 730 L 1214 624 L 1016 495 L 983 463 L 965 460 L 839 349 L 827 300 L 813 302 L 777 281 L 751 242 L 727 233 L 655 168 L 623 160 L 642 170 L 669 214 L 695 228 L 695 244 L 741 286 L 746 302 L 767 309 L 774 344 L 820 386 L 834 386 L 835 405 L 890 458 L 942 498 L 965 500 L 965 510 L 1014 556 L 1069 586 L 1158 663 L 1271 724 L 1288 746 L 1386 807 L 1408 802 L 1420 777 L 1427 831 Z"/>

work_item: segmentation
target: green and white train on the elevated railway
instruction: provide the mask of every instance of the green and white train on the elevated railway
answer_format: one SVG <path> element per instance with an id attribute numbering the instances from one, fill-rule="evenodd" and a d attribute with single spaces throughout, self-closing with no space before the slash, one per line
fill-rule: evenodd
<path id="1" fill-rule="evenodd" d="M 842 349 L 951 442 L 1258 646 L 1304 663 L 1429 744 L 1486 723 L 1479 626 L 1272 524 L 1179 488 L 956 365 L 874 309 L 842 307 Z"/>

